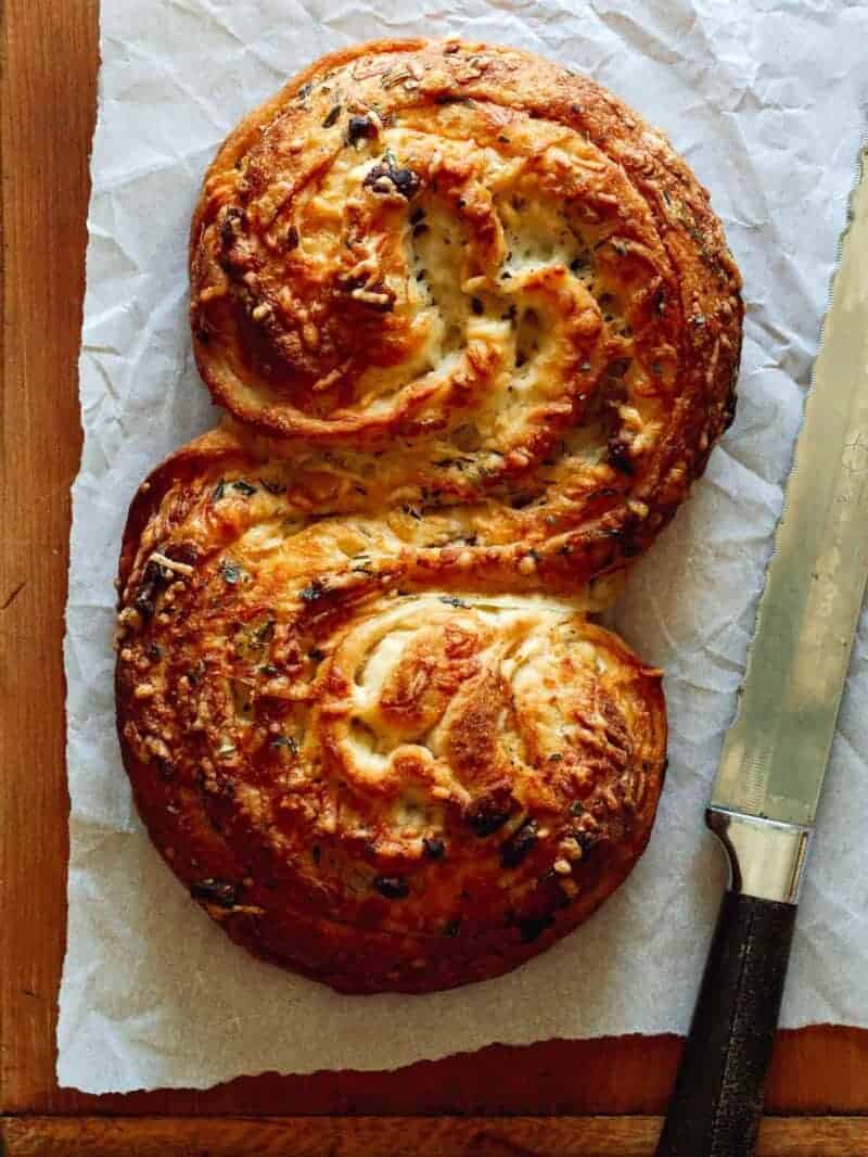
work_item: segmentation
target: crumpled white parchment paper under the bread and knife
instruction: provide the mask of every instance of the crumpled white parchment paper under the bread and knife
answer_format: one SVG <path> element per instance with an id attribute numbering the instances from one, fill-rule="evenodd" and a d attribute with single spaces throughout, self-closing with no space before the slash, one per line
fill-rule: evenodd
<path id="1" fill-rule="evenodd" d="M 380 1069 L 491 1041 L 683 1032 L 723 884 L 703 811 L 734 712 L 863 131 L 868 9 L 728 0 L 103 0 L 81 351 L 84 451 L 67 611 L 72 798 L 58 1077 L 88 1092 L 275 1069 Z M 186 229 L 235 123 L 321 53 L 461 34 L 583 69 L 713 191 L 745 280 L 735 426 L 616 618 L 668 672 L 671 766 L 650 847 L 588 924 L 512 975 L 347 997 L 251 959 L 190 902 L 134 813 L 111 634 L 128 500 L 212 425 L 186 322 Z M 799 920 L 785 1025 L 868 1025 L 868 619 Z"/>

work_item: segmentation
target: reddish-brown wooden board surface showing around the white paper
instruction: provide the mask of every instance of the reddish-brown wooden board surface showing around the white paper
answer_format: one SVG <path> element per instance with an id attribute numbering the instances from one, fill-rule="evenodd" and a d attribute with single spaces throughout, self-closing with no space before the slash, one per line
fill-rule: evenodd
<path id="1" fill-rule="evenodd" d="M 494 1045 L 392 1074 L 269 1074 L 207 1092 L 58 1089 L 68 806 L 60 643 L 96 69 L 97 0 L 7 0 L 0 1138 L 12 1155 L 95 1157 L 652 1154 L 681 1046 L 671 1036 Z M 868 1032 L 780 1033 L 768 1111 L 765 1157 L 868 1152 L 859 1117 L 868 1113 Z"/>

